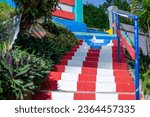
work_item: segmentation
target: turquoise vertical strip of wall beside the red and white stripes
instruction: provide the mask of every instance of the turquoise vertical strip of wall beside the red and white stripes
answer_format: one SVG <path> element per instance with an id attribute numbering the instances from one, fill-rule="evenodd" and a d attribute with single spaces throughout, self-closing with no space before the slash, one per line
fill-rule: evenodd
<path id="1" fill-rule="evenodd" d="M 83 22 L 83 3 L 82 0 L 75 0 L 75 21 L 82 23 Z"/>

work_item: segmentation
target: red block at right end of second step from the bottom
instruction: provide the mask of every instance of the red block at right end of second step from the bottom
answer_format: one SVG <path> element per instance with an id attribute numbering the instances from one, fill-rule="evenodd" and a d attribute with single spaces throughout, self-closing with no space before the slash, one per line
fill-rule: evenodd
<path id="1" fill-rule="evenodd" d="M 134 92 L 135 85 L 133 83 L 116 83 L 117 92 Z"/>

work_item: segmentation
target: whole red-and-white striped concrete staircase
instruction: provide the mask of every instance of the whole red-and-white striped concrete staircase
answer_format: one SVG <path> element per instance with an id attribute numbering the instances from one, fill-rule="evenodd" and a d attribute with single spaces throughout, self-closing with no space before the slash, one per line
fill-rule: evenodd
<path id="1" fill-rule="evenodd" d="M 94 50 L 80 41 L 54 66 L 34 100 L 134 100 L 134 82 L 123 47 L 117 62 L 117 44 Z"/>

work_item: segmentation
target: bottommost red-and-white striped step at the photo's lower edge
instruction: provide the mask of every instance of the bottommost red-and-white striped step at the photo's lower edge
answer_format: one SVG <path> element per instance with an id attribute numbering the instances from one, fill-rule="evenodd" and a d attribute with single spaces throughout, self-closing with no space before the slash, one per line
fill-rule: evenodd
<path id="1" fill-rule="evenodd" d="M 39 92 L 33 100 L 135 100 L 134 93 Z"/>

